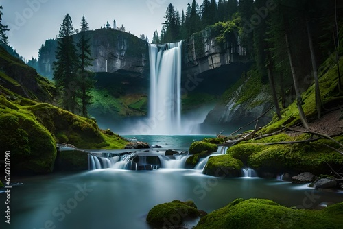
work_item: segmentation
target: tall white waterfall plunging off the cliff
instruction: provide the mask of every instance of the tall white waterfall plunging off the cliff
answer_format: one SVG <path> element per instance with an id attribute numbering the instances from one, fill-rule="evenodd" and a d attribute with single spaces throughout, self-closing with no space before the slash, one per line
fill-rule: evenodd
<path id="1" fill-rule="evenodd" d="M 148 115 L 154 134 L 181 133 L 181 45 L 150 45 Z"/>

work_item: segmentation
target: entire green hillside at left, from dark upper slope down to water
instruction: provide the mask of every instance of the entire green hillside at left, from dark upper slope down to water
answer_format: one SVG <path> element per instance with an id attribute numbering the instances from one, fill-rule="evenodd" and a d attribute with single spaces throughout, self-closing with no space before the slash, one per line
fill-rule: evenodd
<path id="1" fill-rule="evenodd" d="M 11 152 L 13 173 L 53 171 L 56 143 L 84 149 L 126 145 L 119 135 L 100 130 L 95 119 L 51 105 L 58 99 L 54 85 L 1 47 L 0 64 L 0 148 Z"/>

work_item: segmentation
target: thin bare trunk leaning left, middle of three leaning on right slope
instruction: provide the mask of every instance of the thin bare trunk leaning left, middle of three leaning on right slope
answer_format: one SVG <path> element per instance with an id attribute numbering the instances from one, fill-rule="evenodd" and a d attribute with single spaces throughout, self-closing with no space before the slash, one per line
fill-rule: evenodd
<path id="1" fill-rule="evenodd" d="M 301 94 L 300 94 L 299 86 L 298 86 L 298 79 L 296 78 L 296 72 L 294 70 L 294 65 L 293 65 L 293 61 L 292 61 L 292 53 L 291 53 L 291 49 L 289 47 L 289 41 L 288 41 L 287 33 L 285 34 L 285 38 L 286 38 L 286 46 L 287 46 L 289 64 L 291 65 L 294 89 L 296 91 L 296 105 L 298 106 L 301 123 L 303 123 L 304 128 L 309 129 L 309 123 L 307 123 L 303 107 L 301 106 L 303 101 L 301 99 Z"/>

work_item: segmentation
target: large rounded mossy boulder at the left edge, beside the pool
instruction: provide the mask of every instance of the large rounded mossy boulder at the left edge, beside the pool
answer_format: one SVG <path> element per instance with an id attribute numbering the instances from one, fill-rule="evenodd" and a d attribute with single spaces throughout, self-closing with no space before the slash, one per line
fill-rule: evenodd
<path id="1" fill-rule="evenodd" d="M 56 141 L 32 114 L 0 109 L 0 148 L 11 152 L 13 173 L 48 173 L 54 169 Z"/>

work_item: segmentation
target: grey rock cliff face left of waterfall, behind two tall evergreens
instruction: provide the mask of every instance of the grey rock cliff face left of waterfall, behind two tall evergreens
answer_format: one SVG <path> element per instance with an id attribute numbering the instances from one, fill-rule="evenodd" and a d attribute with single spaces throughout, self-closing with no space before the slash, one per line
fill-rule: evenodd
<path id="1" fill-rule="evenodd" d="M 86 35 L 90 38 L 93 58 L 93 66 L 89 70 L 108 73 L 121 70 L 135 75 L 149 71 L 148 44 L 144 40 L 115 29 L 97 29 L 86 32 Z M 75 43 L 79 36 L 80 34 L 73 36 Z M 40 48 L 38 58 L 38 72 L 50 79 L 53 76 L 53 63 L 56 61 L 56 48 L 57 40 L 47 40 Z"/>

